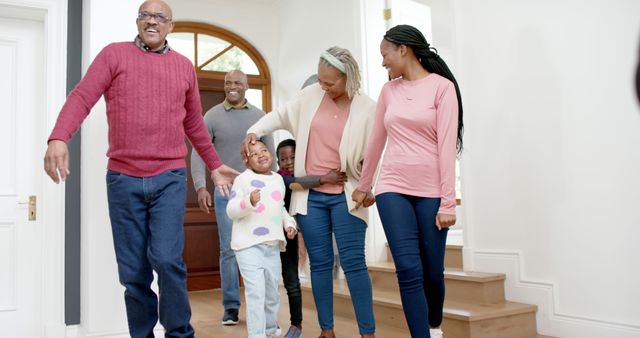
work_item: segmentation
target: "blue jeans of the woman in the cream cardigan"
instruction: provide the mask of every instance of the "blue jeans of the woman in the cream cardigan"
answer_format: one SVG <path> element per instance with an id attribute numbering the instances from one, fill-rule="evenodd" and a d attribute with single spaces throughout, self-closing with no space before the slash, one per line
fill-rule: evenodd
<path id="1" fill-rule="evenodd" d="M 313 299 L 318 323 L 333 329 L 333 240 L 335 234 L 340 264 L 347 277 L 351 301 L 361 335 L 376 331 L 373 316 L 371 279 L 364 256 L 367 224 L 348 211 L 345 194 L 325 194 L 311 190 L 307 214 L 296 215 L 305 239 L 311 267 Z"/>

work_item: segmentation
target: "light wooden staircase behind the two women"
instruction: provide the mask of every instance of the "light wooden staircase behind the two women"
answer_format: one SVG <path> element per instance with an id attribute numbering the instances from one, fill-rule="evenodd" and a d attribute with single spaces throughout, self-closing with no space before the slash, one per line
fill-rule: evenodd
<path id="1" fill-rule="evenodd" d="M 391 254 L 387 252 L 391 259 Z M 394 338 L 411 337 L 402 311 L 393 262 L 369 263 L 378 327 L 394 329 Z M 504 296 L 505 275 L 464 271 L 462 246 L 448 245 L 445 254 L 444 321 L 446 338 L 544 338 L 536 333 L 535 305 L 510 302 Z M 304 307 L 315 309 L 309 284 L 302 285 Z M 345 280 L 334 281 L 335 316 L 355 320 Z M 550 337 L 546 337 L 550 338 Z"/>

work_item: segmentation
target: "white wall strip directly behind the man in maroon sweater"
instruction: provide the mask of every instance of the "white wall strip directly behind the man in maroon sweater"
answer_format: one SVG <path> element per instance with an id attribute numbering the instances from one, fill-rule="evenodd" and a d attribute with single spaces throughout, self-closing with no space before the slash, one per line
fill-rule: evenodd
<path id="1" fill-rule="evenodd" d="M 107 44 L 136 36 L 138 6 L 126 0 L 83 2 L 84 71 Z M 107 207 L 107 147 L 101 99 L 82 125 L 80 337 L 128 337 Z"/>

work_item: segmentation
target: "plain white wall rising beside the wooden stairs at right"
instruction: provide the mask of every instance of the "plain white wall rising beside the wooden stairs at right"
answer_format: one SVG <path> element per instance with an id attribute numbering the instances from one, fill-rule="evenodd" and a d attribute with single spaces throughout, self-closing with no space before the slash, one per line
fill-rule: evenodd
<path id="1" fill-rule="evenodd" d="M 640 2 L 455 0 L 467 243 L 559 337 L 640 336 Z"/>

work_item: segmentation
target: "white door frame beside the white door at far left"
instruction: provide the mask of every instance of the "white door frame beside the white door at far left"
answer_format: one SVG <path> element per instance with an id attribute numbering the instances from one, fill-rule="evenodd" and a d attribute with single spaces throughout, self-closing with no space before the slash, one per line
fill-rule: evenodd
<path id="1" fill-rule="evenodd" d="M 67 1 L 66 0 L 0 0 L 5 16 L 35 19 L 44 23 L 44 110 L 43 129 L 36 132 L 42 144 L 53 129 L 58 112 L 66 97 L 67 69 Z M 43 167 L 33 168 L 43 170 Z M 64 307 L 64 184 L 56 185 L 48 176 L 41 175 L 42 196 L 38 196 L 38 217 L 43 224 L 42 254 L 42 332 L 46 338 L 66 337 Z"/>

